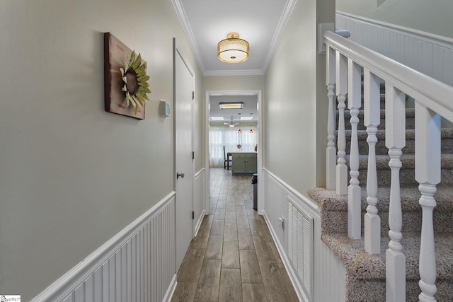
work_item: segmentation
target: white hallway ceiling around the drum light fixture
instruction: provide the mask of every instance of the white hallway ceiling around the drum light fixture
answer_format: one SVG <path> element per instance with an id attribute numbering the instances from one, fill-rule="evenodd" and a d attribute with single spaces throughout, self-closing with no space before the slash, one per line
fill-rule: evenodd
<path id="1" fill-rule="evenodd" d="M 172 0 L 204 76 L 263 75 L 297 0 Z M 217 59 L 217 43 L 239 33 L 250 44 L 246 62 Z"/>

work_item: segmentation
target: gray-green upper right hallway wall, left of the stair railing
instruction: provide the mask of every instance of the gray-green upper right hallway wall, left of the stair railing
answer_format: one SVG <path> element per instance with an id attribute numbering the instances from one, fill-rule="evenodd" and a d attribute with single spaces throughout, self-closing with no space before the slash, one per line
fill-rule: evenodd
<path id="1" fill-rule="evenodd" d="M 304 194 L 316 178 L 316 1 L 297 1 L 265 74 L 264 167 Z"/>

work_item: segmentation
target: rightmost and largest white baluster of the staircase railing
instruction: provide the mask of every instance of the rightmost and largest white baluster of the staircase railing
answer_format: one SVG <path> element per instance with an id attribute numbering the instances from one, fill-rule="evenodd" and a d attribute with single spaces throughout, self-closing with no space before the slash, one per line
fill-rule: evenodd
<path id="1" fill-rule="evenodd" d="M 440 115 L 415 100 L 415 180 L 420 184 L 422 232 L 420 237 L 420 302 L 435 301 L 436 256 L 432 211 L 440 182 Z"/>

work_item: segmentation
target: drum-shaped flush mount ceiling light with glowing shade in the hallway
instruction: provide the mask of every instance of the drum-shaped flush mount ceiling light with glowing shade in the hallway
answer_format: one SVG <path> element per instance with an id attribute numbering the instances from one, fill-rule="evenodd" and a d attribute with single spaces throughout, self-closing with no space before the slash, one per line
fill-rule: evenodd
<path id="1" fill-rule="evenodd" d="M 248 59 L 249 46 L 246 40 L 239 39 L 239 33 L 229 33 L 226 39 L 217 44 L 217 57 L 226 63 L 241 63 Z"/>

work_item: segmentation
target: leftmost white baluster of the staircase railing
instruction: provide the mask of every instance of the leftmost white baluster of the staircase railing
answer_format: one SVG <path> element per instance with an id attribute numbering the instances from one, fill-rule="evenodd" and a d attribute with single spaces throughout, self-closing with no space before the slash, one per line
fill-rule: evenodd
<path id="1" fill-rule="evenodd" d="M 328 96 L 326 188 L 335 190 L 337 150 L 335 147 L 335 50 L 326 46 L 326 86 Z"/>

